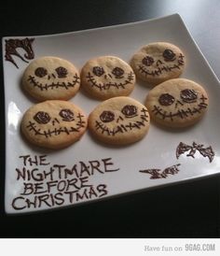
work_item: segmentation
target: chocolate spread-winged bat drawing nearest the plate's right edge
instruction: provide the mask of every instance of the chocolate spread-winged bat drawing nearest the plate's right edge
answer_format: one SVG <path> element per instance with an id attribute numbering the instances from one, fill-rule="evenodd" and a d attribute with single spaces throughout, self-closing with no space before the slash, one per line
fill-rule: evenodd
<path id="1" fill-rule="evenodd" d="M 208 157 L 210 163 L 213 162 L 213 157 L 214 157 L 214 151 L 213 148 L 210 146 L 208 148 L 204 148 L 203 144 L 197 144 L 196 142 L 192 143 L 192 146 L 187 145 L 183 142 L 180 142 L 180 144 L 176 148 L 176 158 L 178 159 L 180 155 L 186 153 L 187 151 L 188 154 L 186 156 L 191 156 L 192 158 L 195 158 L 195 153 L 199 151 L 199 153 L 203 157 Z"/>

